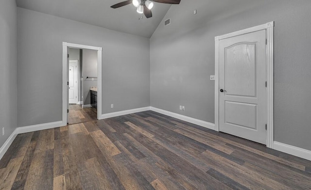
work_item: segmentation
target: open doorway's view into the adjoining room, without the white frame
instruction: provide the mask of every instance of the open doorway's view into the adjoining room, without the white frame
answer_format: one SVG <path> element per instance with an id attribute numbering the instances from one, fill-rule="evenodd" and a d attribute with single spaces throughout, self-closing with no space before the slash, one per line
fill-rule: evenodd
<path id="1" fill-rule="evenodd" d="M 68 54 L 68 124 L 97 120 L 97 51 L 69 48 Z"/>

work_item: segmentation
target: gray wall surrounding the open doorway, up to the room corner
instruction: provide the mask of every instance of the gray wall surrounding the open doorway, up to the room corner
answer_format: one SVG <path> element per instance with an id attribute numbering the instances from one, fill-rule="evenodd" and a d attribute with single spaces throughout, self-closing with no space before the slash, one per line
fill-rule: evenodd
<path id="1" fill-rule="evenodd" d="M 103 47 L 103 113 L 150 105 L 148 38 L 22 8 L 17 26 L 19 127 L 62 120 L 63 41 Z"/>

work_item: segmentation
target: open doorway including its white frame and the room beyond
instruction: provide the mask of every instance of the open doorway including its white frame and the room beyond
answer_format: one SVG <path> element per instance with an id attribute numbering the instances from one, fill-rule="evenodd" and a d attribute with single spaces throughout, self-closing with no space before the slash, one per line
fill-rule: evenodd
<path id="1" fill-rule="evenodd" d="M 102 116 L 102 47 L 63 42 L 63 126 Z"/>

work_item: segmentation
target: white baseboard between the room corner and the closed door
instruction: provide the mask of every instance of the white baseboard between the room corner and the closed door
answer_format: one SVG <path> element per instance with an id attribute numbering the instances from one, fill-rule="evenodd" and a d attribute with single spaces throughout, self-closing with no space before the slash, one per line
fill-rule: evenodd
<path id="1" fill-rule="evenodd" d="M 174 117 L 174 118 L 177 118 L 177 119 L 180 119 L 180 120 L 183 120 L 183 121 L 186 121 L 186 122 L 189 122 L 191 124 L 195 124 L 195 125 L 198 125 L 198 126 L 201 126 L 201 127 L 206 127 L 206 128 L 212 129 L 212 130 L 214 130 L 214 128 L 215 128 L 215 124 L 212 124 L 212 123 L 209 123 L 209 122 L 206 122 L 206 121 L 202 121 L 202 120 L 199 120 L 199 119 L 195 119 L 195 118 L 192 118 L 192 117 L 188 117 L 188 116 L 185 116 L 185 115 L 181 115 L 181 114 L 178 114 L 178 113 L 174 113 L 174 112 L 171 112 L 171 111 L 161 110 L 161 109 L 154 108 L 154 107 L 150 107 L 150 110 L 158 112 L 158 113 L 162 113 L 164 115 L 168 115 L 168 116 L 171 116 L 171 117 Z"/>

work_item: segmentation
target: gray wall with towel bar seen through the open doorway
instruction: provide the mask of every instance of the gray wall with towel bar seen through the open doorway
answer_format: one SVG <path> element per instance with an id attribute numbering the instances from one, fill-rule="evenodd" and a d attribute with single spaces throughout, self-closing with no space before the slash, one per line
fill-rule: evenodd
<path id="1" fill-rule="evenodd" d="M 83 105 L 91 104 L 91 86 L 97 86 L 97 51 L 90 49 L 82 50 L 83 60 Z M 86 77 L 94 77 L 86 79 Z"/>

